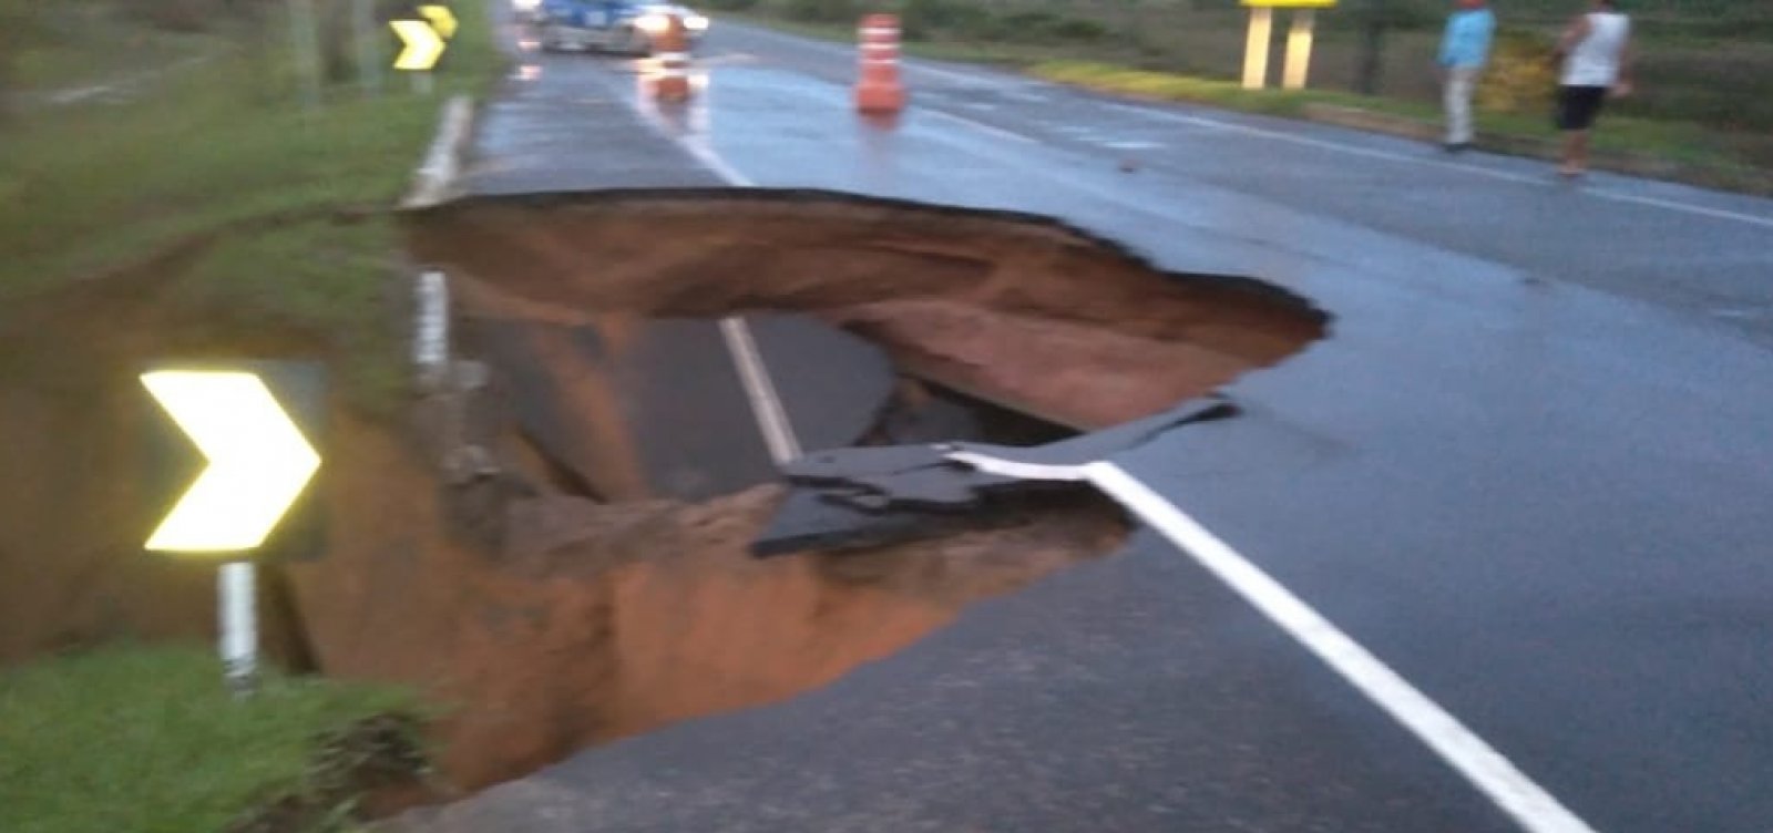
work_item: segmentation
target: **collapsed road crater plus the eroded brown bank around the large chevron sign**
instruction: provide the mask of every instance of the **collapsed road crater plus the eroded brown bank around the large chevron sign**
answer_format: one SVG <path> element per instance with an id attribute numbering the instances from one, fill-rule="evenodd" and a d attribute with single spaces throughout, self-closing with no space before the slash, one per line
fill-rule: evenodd
<path id="1" fill-rule="evenodd" d="M 324 553 L 268 578 L 285 599 L 266 633 L 285 665 L 447 704 L 449 790 L 427 799 L 821 688 L 1124 541 L 1115 507 L 1071 493 L 918 541 L 754 558 L 785 487 L 720 321 L 750 326 L 807 452 L 1039 445 L 1209 393 L 1328 326 L 1259 280 L 1163 271 L 1002 211 L 599 191 L 402 222 L 410 257 L 449 275 L 468 381 L 399 418 L 335 397 Z M 27 519 L 0 525 L 0 659 L 211 636 L 213 571 L 144 557 L 131 532 L 151 514 L 124 487 L 144 464 L 142 356 L 349 360 L 191 307 L 186 266 L 82 285 L 34 307 L 28 335 L 0 331 L 0 507 Z"/>

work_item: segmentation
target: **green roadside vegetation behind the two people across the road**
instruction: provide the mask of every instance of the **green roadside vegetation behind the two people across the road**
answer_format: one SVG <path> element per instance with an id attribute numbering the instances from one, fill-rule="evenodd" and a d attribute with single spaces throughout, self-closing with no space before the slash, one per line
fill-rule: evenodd
<path id="1" fill-rule="evenodd" d="M 839 41 L 878 4 L 863 0 L 711 0 L 752 19 Z M 1551 136 L 1551 44 L 1585 0 L 1496 0 L 1502 32 L 1479 94 L 1493 147 L 1525 151 Z M 1773 172 L 1773 5 L 1732 0 L 1631 0 L 1638 94 L 1612 105 L 1603 151 L 1704 168 L 1711 184 L 1764 188 Z M 1106 92 L 1197 101 L 1275 115 L 1307 105 L 1440 119 L 1434 51 L 1450 2 L 1342 0 L 1317 12 L 1308 92 L 1238 85 L 1246 11 L 1238 0 L 894 0 L 910 53 L 1005 64 Z M 1287 11 L 1277 14 L 1278 64 Z"/>

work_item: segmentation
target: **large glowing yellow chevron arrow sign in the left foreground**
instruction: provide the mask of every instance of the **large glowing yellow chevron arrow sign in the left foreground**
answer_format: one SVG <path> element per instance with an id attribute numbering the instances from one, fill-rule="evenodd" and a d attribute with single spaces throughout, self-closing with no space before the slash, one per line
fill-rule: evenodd
<path id="1" fill-rule="evenodd" d="M 319 454 L 255 374 L 156 370 L 142 385 L 209 461 L 147 549 L 257 549 L 319 470 Z"/>

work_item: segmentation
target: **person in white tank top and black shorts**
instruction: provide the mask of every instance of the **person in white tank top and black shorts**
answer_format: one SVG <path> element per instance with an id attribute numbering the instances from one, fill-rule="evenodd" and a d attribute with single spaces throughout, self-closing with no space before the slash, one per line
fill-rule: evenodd
<path id="1" fill-rule="evenodd" d="M 1582 175 L 1589 167 L 1589 129 L 1608 96 L 1631 92 L 1631 18 L 1613 0 L 1590 0 L 1592 9 L 1564 30 L 1557 53 L 1557 126 L 1564 131 L 1564 165 L 1558 174 Z"/>

